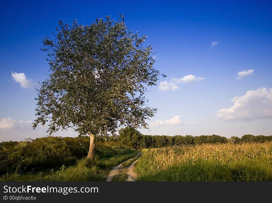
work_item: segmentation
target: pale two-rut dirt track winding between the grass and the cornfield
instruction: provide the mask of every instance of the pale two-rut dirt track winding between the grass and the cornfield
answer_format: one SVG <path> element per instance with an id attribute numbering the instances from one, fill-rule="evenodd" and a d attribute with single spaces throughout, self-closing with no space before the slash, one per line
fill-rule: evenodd
<path id="1" fill-rule="evenodd" d="M 138 155 L 139 155 L 139 153 L 142 154 L 142 152 L 138 152 Z M 137 155 L 137 156 L 138 156 L 138 155 Z M 134 159 L 134 158 L 135 158 L 135 157 L 133 157 L 133 158 L 131 158 L 131 159 Z M 128 160 L 130 160 L 130 159 L 128 159 Z M 126 160 L 126 161 L 128 161 L 128 160 Z M 120 170 L 124 170 L 124 169 L 127 170 L 127 174 L 128 174 L 128 179 L 127 179 L 126 181 L 135 181 L 135 179 L 136 179 L 136 177 L 137 177 L 137 174 L 134 172 L 134 164 L 135 164 L 138 160 L 139 160 L 139 159 L 137 159 L 137 160 L 135 160 L 134 162 L 132 162 L 132 163 L 130 164 L 129 167 L 124 167 L 124 166 L 122 166 L 122 164 L 125 163 L 126 161 L 120 163 L 118 166 L 114 166 L 114 167 L 112 168 L 112 170 L 109 172 L 109 175 L 108 175 L 106 181 L 111 181 L 112 178 L 113 178 L 113 176 L 118 175 L 118 174 L 119 174 L 119 171 L 120 171 Z"/>

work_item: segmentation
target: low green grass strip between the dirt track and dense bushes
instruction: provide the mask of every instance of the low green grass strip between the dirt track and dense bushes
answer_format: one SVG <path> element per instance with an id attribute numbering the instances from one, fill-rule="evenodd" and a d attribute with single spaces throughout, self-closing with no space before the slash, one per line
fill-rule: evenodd
<path id="1" fill-rule="evenodd" d="M 99 158 L 96 156 L 89 161 L 86 158 L 77 160 L 73 166 L 45 169 L 41 171 L 28 171 L 20 173 L 6 173 L 0 177 L 0 181 L 105 181 L 106 169 L 116 166 L 123 161 L 137 155 L 134 150 L 130 154 L 115 155 L 111 158 Z"/>

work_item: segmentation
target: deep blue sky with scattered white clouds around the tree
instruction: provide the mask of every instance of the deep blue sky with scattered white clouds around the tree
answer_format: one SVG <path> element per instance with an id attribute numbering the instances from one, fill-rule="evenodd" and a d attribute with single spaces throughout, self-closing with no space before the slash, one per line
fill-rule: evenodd
<path id="1" fill-rule="evenodd" d="M 42 39 L 58 20 L 87 25 L 119 14 L 129 29 L 148 36 L 155 68 L 168 75 L 146 95 L 158 112 L 142 133 L 272 134 L 269 1 L 8 1 L 0 9 L 0 141 L 47 135 L 41 126 L 33 131 L 30 121 L 36 83 L 49 70 Z"/>

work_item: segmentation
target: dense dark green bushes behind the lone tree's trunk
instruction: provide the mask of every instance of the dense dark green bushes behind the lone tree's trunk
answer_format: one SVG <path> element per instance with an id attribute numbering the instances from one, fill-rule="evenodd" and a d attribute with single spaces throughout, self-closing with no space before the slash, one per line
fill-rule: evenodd
<path id="1" fill-rule="evenodd" d="M 45 168 L 70 166 L 87 156 L 89 137 L 42 137 L 23 142 L 0 143 L 0 175 L 7 172 L 37 171 Z M 126 146 L 117 142 L 98 142 L 96 154 L 100 158 L 129 154 Z"/>

